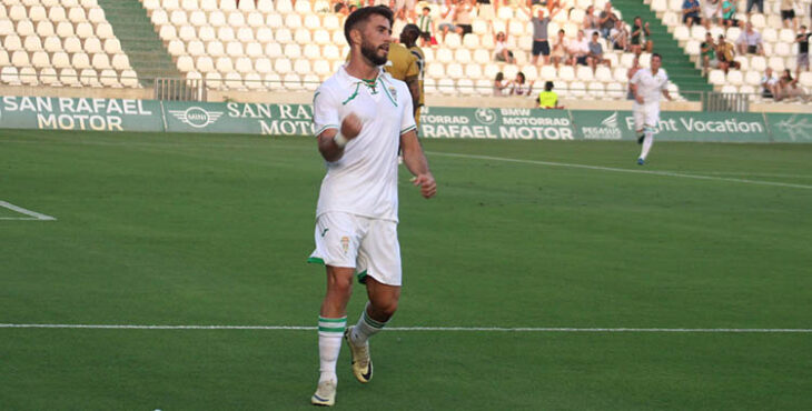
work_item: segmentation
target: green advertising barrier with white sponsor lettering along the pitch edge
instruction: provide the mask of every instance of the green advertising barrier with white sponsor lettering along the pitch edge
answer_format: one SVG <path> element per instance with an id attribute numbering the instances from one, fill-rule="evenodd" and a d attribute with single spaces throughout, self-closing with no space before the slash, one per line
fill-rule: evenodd
<path id="1" fill-rule="evenodd" d="M 313 134 L 310 104 L 215 103 L 126 99 L 1 97 L 0 128 Z M 426 107 L 420 137 L 429 139 L 633 140 L 631 111 L 568 111 Z M 812 113 L 661 114 L 665 141 L 812 142 Z"/>

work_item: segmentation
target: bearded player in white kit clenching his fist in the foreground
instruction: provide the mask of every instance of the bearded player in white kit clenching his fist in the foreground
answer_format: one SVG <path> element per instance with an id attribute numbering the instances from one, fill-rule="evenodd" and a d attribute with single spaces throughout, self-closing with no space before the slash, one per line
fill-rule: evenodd
<path id="1" fill-rule="evenodd" d="M 380 331 L 397 309 L 398 147 L 420 194 L 428 199 L 437 191 L 417 140 L 408 87 L 382 69 L 392 23 L 392 11 L 385 7 L 353 12 L 344 26 L 349 62 L 314 94 L 313 121 L 327 166 L 316 209 L 316 250 L 308 259 L 327 269 L 327 293 L 318 320 L 320 377 L 310 399 L 316 405 L 335 403 L 341 338 L 350 349 L 356 379 L 372 379 L 367 339 Z M 346 309 L 356 273 L 366 284 L 369 300 L 358 322 L 347 328 Z"/>

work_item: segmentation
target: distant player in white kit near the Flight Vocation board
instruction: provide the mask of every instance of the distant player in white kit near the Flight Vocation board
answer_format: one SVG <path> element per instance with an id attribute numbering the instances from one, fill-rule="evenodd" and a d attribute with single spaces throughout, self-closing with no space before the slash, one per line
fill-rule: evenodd
<path id="1" fill-rule="evenodd" d="M 637 158 L 637 164 L 645 164 L 648 151 L 654 144 L 654 130 L 660 123 L 660 94 L 671 101 L 669 94 L 669 74 L 660 67 L 663 58 L 652 54 L 651 69 L 640 69 L 630 80 L 630 87 L 634 94 L 634 127 L 640 138 L 637 143 L 643 144 L 643 150 Z"/>

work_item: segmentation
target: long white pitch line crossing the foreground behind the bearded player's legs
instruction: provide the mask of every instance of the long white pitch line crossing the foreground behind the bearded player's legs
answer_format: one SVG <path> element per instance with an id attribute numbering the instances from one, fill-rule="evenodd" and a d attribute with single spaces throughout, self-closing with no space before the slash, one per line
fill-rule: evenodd
<path id="1" fill-rule="evenodd" d="M 138 324 L 0 324 L 0 329 L 98 329 L 98 330 L 264 330 L 315 331 L 304 325 L 138 325 Z M 812 329 L 749 328 L 570 328 L 570 327 L 390 327 L 387 331 L 468 331 L 468 332 L 597 332 L 597 333 L 812 333 Z"/>

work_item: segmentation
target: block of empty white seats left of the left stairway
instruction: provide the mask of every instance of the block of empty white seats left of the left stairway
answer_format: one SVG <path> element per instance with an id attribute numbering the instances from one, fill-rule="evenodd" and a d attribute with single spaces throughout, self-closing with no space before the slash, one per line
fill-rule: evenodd
<path id="1" fill-rule="evenodd" d="M 0 40 L 2 83 L 139 87 L 96 0 L 2 0 Z"/>

